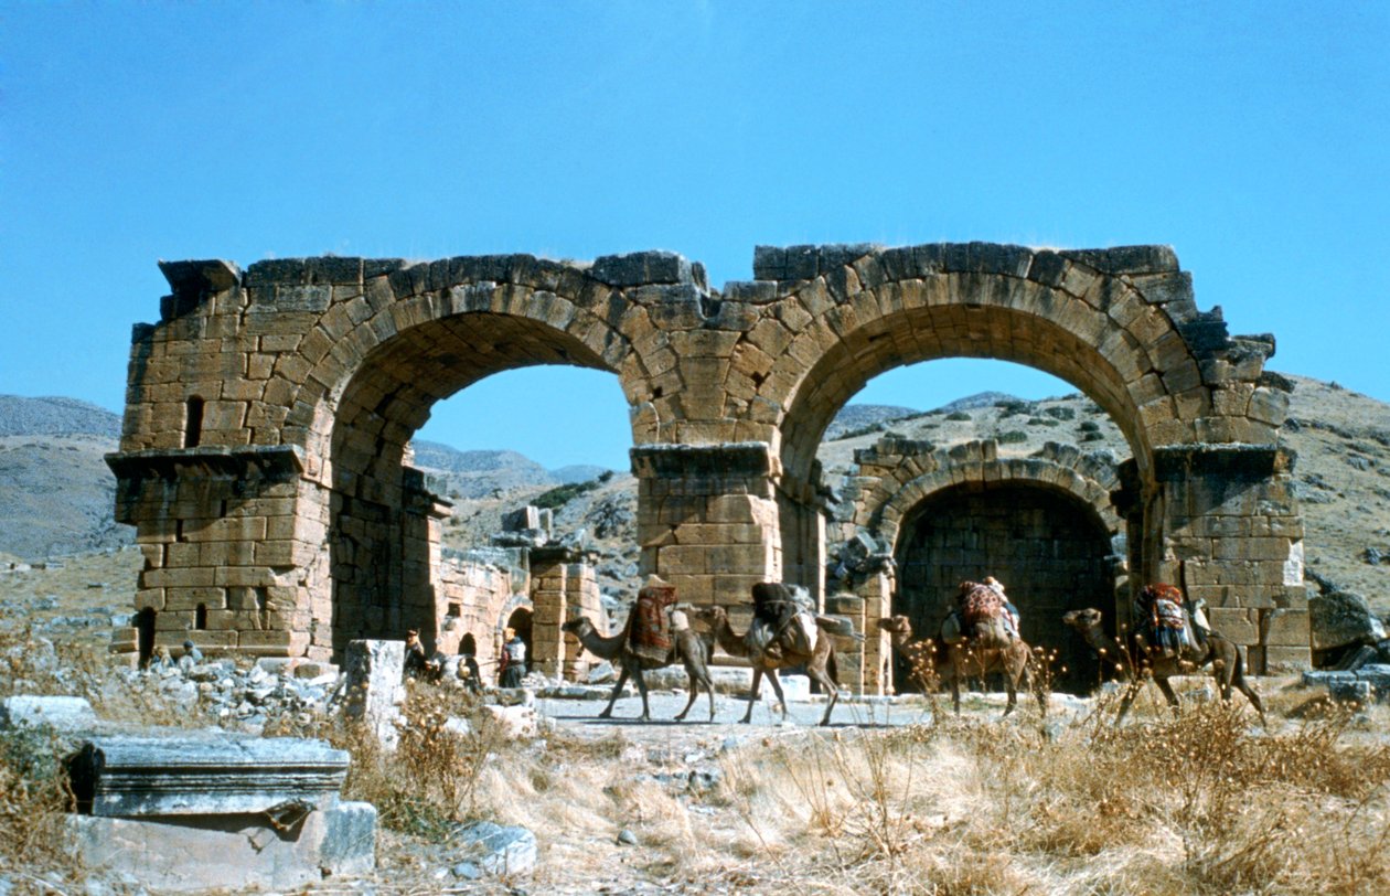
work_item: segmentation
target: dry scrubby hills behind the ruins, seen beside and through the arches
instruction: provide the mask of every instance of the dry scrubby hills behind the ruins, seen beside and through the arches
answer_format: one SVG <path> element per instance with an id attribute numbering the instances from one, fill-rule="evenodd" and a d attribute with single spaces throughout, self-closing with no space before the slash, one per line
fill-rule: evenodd
<path id="1" fill-rule="evenodd" d="M 1289 378 L 1297 388 L 1282 442 L 1297 455 L 1293 487 L 1308 531 L 1308 569 L 1365 594 L 1384 612 L 1390 609 L 1390 405 L 1334 383 Z M 951 410 L 969 413 L 949 420 Z M 892 405 L 845 406 L 817 451 L 827 481 L 853 474 L 855 449 L 873 445 L 890 422 L 906 438 L 938 445 L 999 438 L 1019 451 L 1054 440 L 1084 451 L 1129 454 L 1113 422 L 1081 394 L 1020 401 L 980 392 L 931 413 Z M 113 519 L 115 479 L 103 461 L 103 454 L 117 448 L 120 424 L 118 415 L 78 399 L 0 395 L 0 555 L 42 559 L 133 541 L 133 529 Z M 414 449 L 414 466 L 455 504 L 446 529 L 455 545 L 463 544 L 460 538 L 486 538 L 500 512 L 602 472 L 594 466 L 546 470 L 516 451 L 457 451 L 428 441 L 417 441 Z M 594 520 L 574 520 L 594 531 L 627 520 L 602 536 L 616 558 L 606 561 L 617 570 L 613 576 L 627 579 L 635 576 L 637 562 L 631 483 L 628 476 L 610 480 L 607 491 L 594 493 Z M 620 495 L 623 488 L 631 494 Z M 571 511 L 578 513 L 578 508 L 563 513 Z"/>

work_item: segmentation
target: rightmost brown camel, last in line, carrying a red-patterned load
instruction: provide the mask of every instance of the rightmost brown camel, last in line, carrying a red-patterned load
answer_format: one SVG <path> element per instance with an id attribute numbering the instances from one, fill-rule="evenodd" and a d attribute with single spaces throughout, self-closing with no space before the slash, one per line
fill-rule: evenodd
<path id="1" fill-rule="evenodd" d="M 1176 711 L 1177 694 L 1173 693 L 1173 686 L 1168 683 L 1168 679 L 1175 675 L 1187 675 L 1208 662 L 1212 664 L 1212 676 L 1216 679 L 1222 700 L 1230 701 L 1230 689 L 1234 685 L 1240 693 L 1250 698 L 1255 712 L 1259 714 L 1259 721 L 1265 721 L 1265 704 L 1245 680 L 1245 664 L 1240 658 L 1240 650 L 1226 637 L 1216 632 L 1208 632 L 1204 644 L 1184 647 L 1179 655 L 1169 657 L 1162 650 L 1147 644 L 1138 634 L 1131 639 L 1129 647 L 1119 639 L 1106 637 L 1101 619 L 1101 611 L 1090 607 L 1073 609 L 1062 616 L 1062 622 L 1080 632 L 1086 643 L 1101 655 L 1102 662 L 1115 658 L 1116 671 L 1120 678 L 1129 682 L 1125 697 L 1120 700 L 1119 715 L 1115 717 L 1116 725 L 1129 712 L 1134 696 L 1144 686 L 1145 675 L 1152 675 L 1154 683 L 1158 685 L 1163 697 L 1168 698 L 1168 704 Z"/>

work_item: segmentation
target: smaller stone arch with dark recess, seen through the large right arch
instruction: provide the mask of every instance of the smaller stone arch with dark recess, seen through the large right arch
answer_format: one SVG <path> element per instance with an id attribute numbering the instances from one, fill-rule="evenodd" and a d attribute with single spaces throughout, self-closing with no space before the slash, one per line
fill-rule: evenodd
<path id="1" fill-rule="evenodd" d="M 937 630 L 960 580 L 999 577 L 1022 612 L 1023 636 L 1058 653 L 1054 685 L 1086 690 L 1097 680 L 1091 650 L 1070 636 L 1062 614 L 1098 607 L 1113 619 L 1127 608 L 1116 601 L 1126 579 L 1126 526 L 1111 502 L 1119 487 L 1109 451 L 1048 442 L 1009 456 L 995 440 L 937 448 L 881 438 L 855 452 L 835 506 L 831 562 L 847 586 L 865 570 L 891 569 L 885 615 L 906 615 L 923 634 Z M 866 662 L 876 661 L 870 650 Z"/>

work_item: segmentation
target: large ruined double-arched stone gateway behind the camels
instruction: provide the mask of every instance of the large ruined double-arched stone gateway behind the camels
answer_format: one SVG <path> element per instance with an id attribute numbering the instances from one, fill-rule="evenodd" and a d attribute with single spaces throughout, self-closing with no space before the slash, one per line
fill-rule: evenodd
<path id="1" fill-rule="evenodd" d="M 135 328 L 110 458 L 157 637 L 203 604 L 207 647 L 327 658 L 436 614 L 448 506 L 409 440 L 435 401 L 534 363 L 617 377 L 644 572 L 696 602 L 766 579 L 823 593 L 826 424 L 877 373 L 967 355 L 1041 367 L 1105 408 L 1134 454 L 1134 569 L 1248 625 L 1255 668 L 1307 661 L 1287 398 L 1262 374 L 1273 339 L 1198 312 L 1170 249 L 759 248 L 755 280 L 721 291 L 666 252 L 161 269 L 171 294 Z"/>

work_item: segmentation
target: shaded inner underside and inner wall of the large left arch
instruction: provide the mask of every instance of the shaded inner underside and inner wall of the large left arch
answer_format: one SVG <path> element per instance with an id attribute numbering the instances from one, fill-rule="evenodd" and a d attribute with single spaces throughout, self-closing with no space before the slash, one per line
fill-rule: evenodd
<path id="1" fill-rule="evenodd" d="M 350 640 L 400 637 L 407 627 L 434 641 L 432 545 L 448 504 L 409 466 L 410 440 L 435 402 L 488 376 L 535 365 L 619 373 L 584 341 L 543 320 L 466 312 L 417 323 L 374 346 L 329 403 L 329 488 L 320 509 L 331 594 L 318 600 L 331 601 L 331 612 L 316 616 L 331 618 L 335 655 Z"/>

